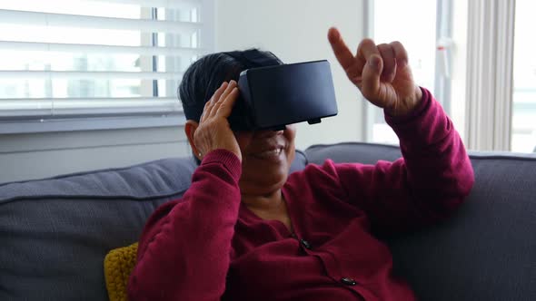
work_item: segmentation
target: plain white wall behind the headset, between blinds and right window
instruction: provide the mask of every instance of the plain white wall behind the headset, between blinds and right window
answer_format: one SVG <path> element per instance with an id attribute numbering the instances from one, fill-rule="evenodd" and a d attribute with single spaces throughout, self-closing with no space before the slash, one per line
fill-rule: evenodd
<path id="1" fill-rule="evenodd" d="M 216 51 L 260 47 L 284 63 L 327 59 L 332 64 L 339 115 L 298 126 L 299 149 L 315 143 L 362 140 L 362 97 L 348 81 L 327 40 L 341 30 L 352 50 L 363 37 L 362 0 L 215 0 Z"/>

